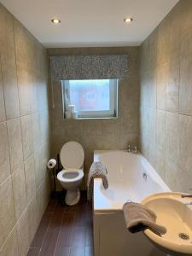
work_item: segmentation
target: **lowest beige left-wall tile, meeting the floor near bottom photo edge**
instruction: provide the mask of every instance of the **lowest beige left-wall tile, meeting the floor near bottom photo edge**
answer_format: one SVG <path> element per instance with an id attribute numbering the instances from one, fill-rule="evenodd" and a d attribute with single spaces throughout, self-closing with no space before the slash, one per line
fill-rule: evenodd
<path id="1" fill-rule="evenodd" d="M 28 214 L 25 210 L 16 224 L 20 256 L 26 256 L 30 245 Z"/>

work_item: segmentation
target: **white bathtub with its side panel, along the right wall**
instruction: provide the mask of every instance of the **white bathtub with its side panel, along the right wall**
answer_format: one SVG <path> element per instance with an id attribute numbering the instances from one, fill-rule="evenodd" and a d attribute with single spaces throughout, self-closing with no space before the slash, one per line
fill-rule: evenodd
<path id="1" fill-rule="evenodd" d="M 93 223 L 95 256 L 162 256 L 143 232 L 131 234 L 122 212 L 128 201 L 141 202 L 151 194 L 170 191 L 142 154 L 94 151 L 94 161 L 108 169 L 108 189 L 94 180 Z"/>

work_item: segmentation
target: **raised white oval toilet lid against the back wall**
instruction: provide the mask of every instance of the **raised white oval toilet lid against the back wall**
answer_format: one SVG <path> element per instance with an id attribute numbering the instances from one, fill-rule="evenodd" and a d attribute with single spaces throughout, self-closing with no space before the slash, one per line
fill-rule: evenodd
<path id="1" fill-rule="evenodd" d="M 60 160 L 65 169 L 80 168 L 84 164 L 84 148 L 76 142 L 66 143 L 61 148 Z"/>

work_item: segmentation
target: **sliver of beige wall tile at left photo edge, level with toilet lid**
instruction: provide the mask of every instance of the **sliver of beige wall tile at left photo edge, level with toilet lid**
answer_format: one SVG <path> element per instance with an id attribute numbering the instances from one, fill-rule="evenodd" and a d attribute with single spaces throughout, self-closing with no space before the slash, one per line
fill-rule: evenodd
<path id="1" fill-rule="evenodd" d="M 10 175 L 9 144 L 6 123 L 0 123 L 0 183 Z"/>

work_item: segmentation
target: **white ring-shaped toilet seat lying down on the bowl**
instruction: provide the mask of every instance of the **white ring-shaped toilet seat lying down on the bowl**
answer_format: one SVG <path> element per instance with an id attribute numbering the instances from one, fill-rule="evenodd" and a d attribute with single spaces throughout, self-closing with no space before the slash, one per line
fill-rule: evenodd
<path id="1" fill-rule="evenodd" d="M 77 173 L 78 175 L 76 177 L 70 177 L 70 175 L 67 177 L 67 173 L 68 174 L 74 174 Z M 66 175 L 66 177 L 65 177 Z M 76 168 L 72 168 L 72 169 L 65 169 L 62 170 L 61 172 L 59 172 L 57 174 L 57 178 L 59 181 L 64 182 L 64 183 L 73 183 L 76 181 L 79 181 L 80 179 L 82 179 L 84 177 L 84 172 L 82 169 L 76 169 Z"/>

